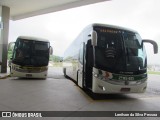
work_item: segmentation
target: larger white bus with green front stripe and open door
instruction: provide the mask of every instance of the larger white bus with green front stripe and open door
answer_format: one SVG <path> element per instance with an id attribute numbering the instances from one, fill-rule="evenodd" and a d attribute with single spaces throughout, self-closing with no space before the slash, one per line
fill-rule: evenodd
<path id="1" fill-rule="evenodd" d="M 64 54 L 64 75 L 93 93 L 143 93 L 147 88 L 144 43 L 131 29 L 106 25 L 87 26 Z"/>

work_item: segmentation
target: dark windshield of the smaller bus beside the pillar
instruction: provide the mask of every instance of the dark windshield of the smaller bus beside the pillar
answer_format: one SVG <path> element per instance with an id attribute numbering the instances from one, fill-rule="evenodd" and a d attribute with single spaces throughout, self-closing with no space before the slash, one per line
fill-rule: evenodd
<path id="1" fill-rule="evenodd" d="M 18 39 L 13 52 L 13 63 L 22 66 L 47 66 L 49 43 L 27 39 Z"/>

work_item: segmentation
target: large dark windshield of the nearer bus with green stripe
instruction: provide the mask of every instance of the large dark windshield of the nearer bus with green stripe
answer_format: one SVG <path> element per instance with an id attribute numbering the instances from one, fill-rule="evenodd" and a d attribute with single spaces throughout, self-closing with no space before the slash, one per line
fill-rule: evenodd
<path id="1" fill-rule="evenodd" d="M 146 53 L 137 33 L 118 29 L 97 29 L 95 64 L 111 72 L 146 71 Z"/>

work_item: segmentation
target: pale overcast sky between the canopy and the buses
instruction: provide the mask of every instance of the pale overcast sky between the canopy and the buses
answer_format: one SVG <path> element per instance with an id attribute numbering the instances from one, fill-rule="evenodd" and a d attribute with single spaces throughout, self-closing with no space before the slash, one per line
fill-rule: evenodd
<path id="1" fill-rule="evenodd" d="M 10 21 L 9 42 L 22 35 L 45 38 L 51 42 L 53 54 L 63 56 L 85 26 L 104 23 L 134 29 L 142 39 L 152 39 L 160 46 L 159 6 L 160 0 L 111 0 Z M 149 44 L 146 51 L 148 63 L 160 65 L 160 53 L 154 55 Z"/>

